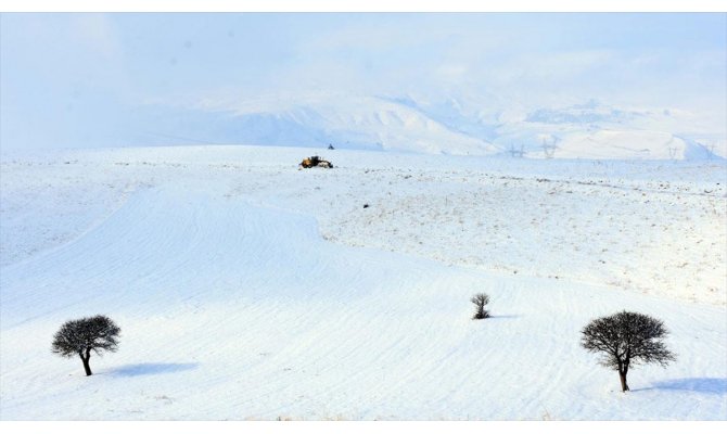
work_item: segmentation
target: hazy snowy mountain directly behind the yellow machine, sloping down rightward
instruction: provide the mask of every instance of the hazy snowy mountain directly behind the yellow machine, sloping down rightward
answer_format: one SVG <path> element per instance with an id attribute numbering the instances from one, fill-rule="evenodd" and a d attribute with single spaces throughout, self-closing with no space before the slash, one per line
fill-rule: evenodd
<path id="1" fill-rule="evenodd" d="M 417 106 L 377 97 L 308 93 L 228 102 L 244 143 L 488 155 L 486 137 L 458 130 Z"/>

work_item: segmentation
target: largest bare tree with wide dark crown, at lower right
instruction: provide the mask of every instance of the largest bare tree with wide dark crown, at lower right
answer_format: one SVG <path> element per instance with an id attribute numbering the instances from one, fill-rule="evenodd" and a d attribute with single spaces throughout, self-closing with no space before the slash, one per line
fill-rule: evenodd
<path id="1" fill-rule="evenodd" d="M 621 390 L 626 392 L 626 375 L 632 365 L 666 367 L 675 360 L 675 355 L 661 341 L 667 334 L 662 321 L 624 310 L 588 323 L 583 329 L 581 345 L 590 353 L 603 353 L 601 365 L 618 371 Z"/>

